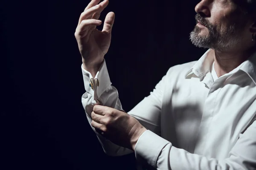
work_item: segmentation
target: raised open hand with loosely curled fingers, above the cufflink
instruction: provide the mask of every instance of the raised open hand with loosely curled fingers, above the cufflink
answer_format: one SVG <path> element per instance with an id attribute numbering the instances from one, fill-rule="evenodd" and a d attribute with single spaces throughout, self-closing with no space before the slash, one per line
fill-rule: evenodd
<path id="1" fill-rule="evenodd" d="M 107 14 L 102 31 L 96 26 L 102 24 L 99 20 L 101 12 L 108 6 L 109 1 L 92 0 L 81 13 L 79 23 L 76 28 L 75 37 L 82 56 L 83 67 L 89 71 L 93 77 L 96 76 L 105 54 L 107 54 L 110 42 L 111 31 L 115 19 L 115 14 Z M 98 4 L 99 3 L 99 4 Z M 97 5 L 98 4 L 98 5 Z"/>

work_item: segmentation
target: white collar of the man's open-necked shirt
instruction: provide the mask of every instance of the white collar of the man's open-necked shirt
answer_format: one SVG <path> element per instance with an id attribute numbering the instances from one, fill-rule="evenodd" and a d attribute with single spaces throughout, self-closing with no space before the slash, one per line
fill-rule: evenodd
<path id="1" fill-rule="evenodd" d="M 207 50 L 195 65 L 186 73 L 185 78 L 191 74 L 201 77 L 210 72 L 212 63 L 214 62 L 213 55 L 209 55 L 211 52 L 213 52 L 212 49 Z M 240 66 L 239 70 L 244 71 L 256 85 L 256 52 Z"/>

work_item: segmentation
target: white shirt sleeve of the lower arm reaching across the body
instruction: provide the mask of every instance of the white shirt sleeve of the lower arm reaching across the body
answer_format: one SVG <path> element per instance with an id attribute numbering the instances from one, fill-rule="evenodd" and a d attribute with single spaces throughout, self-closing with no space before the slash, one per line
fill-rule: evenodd
<path id="1" fill-rule="evenodd" d="M 227 159 L 192 154 L 146 130 L 135 146 L 136 159 L 157 170 L 256 170 L 256 121 L 232 148 Z"/>

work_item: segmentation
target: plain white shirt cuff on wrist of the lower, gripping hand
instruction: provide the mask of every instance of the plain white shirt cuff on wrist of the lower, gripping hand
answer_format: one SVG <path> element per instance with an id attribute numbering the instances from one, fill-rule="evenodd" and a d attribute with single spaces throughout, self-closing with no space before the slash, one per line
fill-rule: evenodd
<path id="1" fill-rule="evenodd" d="M 147 164 L 157 168 L 157 158 L 167 144 L 170 142 L 150 130 L 146 130 L 135 145 L 135 157 L 138 161 L 146 161 Z"/>

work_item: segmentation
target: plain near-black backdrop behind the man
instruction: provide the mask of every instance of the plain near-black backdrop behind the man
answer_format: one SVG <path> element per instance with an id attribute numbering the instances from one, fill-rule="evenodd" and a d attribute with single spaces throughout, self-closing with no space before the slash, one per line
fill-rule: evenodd
<path id="1" fill-rule="evenodd" d="M 134 154 L 106 156 L 81 105 L 85 92 L 74 33 L 89 0 L 0 2 L 0 169 L 134 170 Z M 105 59 L 125 111 L 168 69 L 197 60 L 189 32 L 197 1 L 111 0 Z M 143 88 L 140 88 L 143 82 Z"/>

